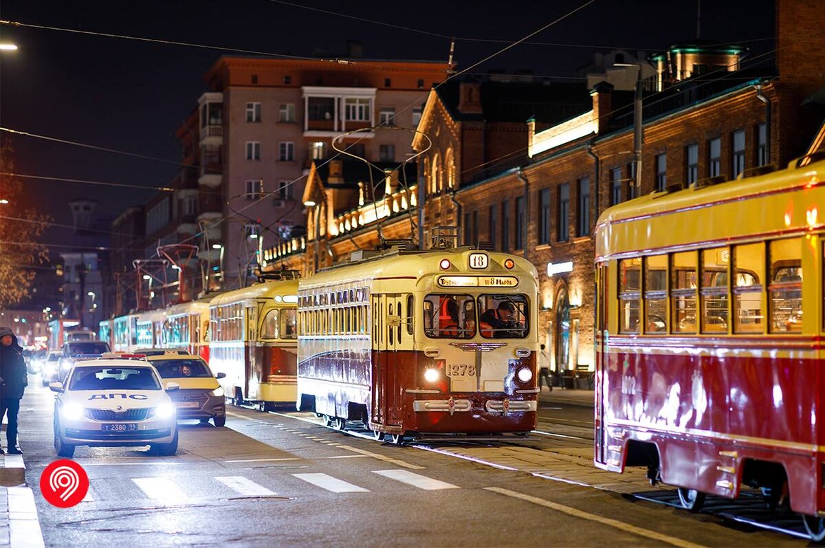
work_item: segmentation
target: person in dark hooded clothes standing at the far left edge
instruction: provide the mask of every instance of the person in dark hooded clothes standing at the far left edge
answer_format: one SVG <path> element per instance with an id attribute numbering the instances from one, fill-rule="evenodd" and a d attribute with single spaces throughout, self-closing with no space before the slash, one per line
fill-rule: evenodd
<path id="1" fill-rule="evenodd" d="M 8 452 L 12 455 L 21 455 L 23 451 L 17 446 L 17 413 L 20 411 L 20 400 L 23 391 L 29 385 L 29 380 L 26 376 L 23 349 L 10 328 L 0 328 L 0 377 L 0 420 L 8 413 Z"/>

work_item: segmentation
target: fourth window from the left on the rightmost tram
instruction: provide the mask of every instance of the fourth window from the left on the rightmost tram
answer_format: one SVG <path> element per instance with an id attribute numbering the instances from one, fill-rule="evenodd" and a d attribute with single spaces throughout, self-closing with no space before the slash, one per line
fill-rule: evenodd
<path id="1" fill-rule="evenodd" d="M 728 332 L 728 262 L 729 248 L 702 250 L 699 288 L 702 333 Z"/>

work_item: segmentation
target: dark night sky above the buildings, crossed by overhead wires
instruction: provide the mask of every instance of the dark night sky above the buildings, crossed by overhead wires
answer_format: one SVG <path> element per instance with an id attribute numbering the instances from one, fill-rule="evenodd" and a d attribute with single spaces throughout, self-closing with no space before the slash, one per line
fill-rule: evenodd
<path id="1" fill-rule="evenodd" d="M 343 56 L 347 40 L 359 40 L 367 59 L 446 62 L 450 45 L 446 36 L 455 35 L 460 70 L 586 2 L 294 2 L 350 16 L 342 17 L 271 0 L 2 0 L 0 19 L 323 58 Z M 752 54 L 775 47 L 773 40 L 760 40 L 775 35 L 774 0 L 705 0 L 701 9 L 702 38 L 742 41 Z M 472 72 L 530 69 L 536 75 L 569 77 L 595 51 L 621 47 L 651 52 L 695 39 L 695 13 L 695 0 L 596 0 L 529 40 L 542 44 L 517 45 Z M 20 48 L 0 54 L 0 125 L 171 162 L 180 159 L 174 132 L 206 90 L 203 74 L 220 54 L 233 54 L 7 25 L 0 26 L 0 41 L 12 41 Z M 15 136 L 12 143 L 18 173 L 158 187 L 167 185 L 177 172 L 172 163 L 41 139 Z M 66 224 L 71 222 L 69 200 L 92 198 L 106 215 L 115 217 L 153 194 L 62 182 L 28 184 L 33 195 L 43 197 L 44 210 L 54 222 Z M 45 239 L 64 242 L 67 235 L 51 230 Z"/>

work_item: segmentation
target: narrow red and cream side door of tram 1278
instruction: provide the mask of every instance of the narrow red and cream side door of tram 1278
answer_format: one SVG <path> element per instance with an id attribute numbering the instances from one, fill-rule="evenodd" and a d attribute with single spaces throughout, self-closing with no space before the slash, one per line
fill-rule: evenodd
<path id="1" fill-rule="evenodd" d="M 372 295 L 372 417 L 376 423 L 401 423 L 400 382 L 396 345 L 400 295 Z"/>

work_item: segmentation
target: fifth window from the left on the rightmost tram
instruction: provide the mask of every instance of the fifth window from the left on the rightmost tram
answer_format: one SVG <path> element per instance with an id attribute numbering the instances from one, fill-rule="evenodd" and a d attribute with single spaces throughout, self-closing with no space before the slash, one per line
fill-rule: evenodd
<path id="1" fill-rule="evenodd" d="M 765 279 L 765 244 L 748 243 L 733 248 L 733 332 L 762 333 L 762 283 Z"/>

